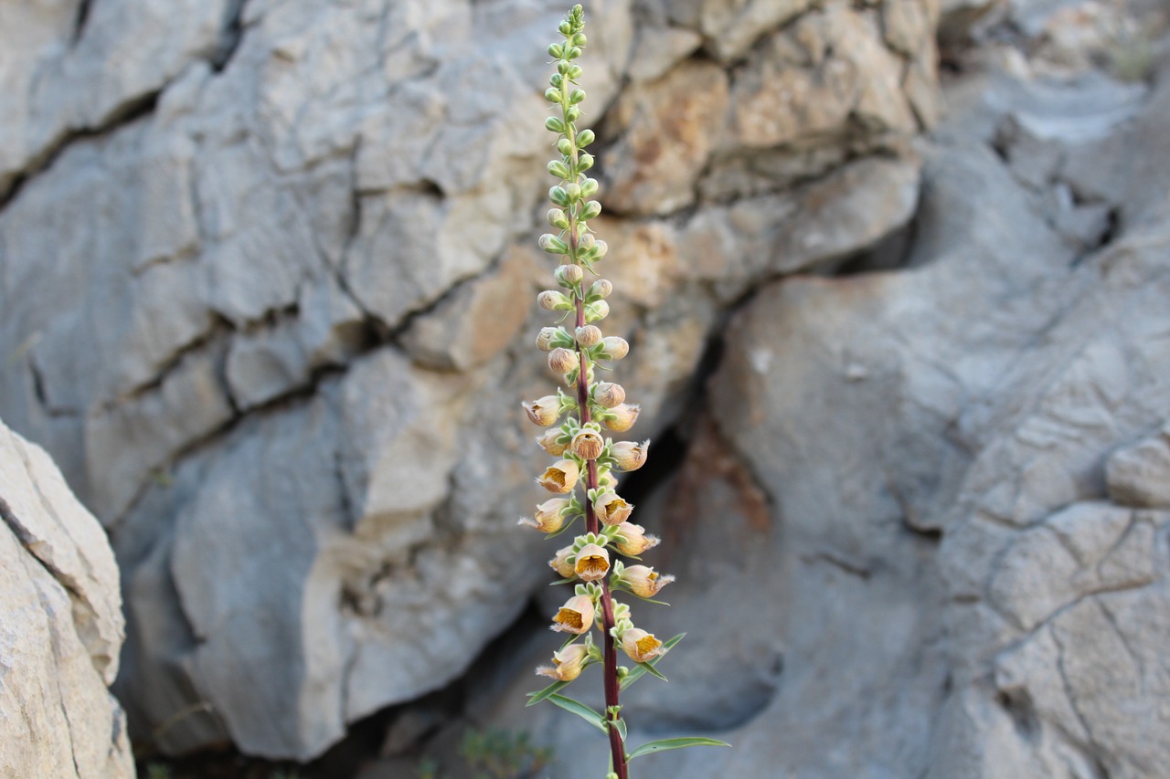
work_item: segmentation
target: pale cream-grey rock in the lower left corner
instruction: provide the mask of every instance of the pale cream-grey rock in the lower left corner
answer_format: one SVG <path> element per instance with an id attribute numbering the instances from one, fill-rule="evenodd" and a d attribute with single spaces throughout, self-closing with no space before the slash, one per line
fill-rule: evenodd
<path id="1" fill-rule="evenodd" d="M 48 454 L 0 423 L 0 775 L 133 777 L 109 692 L 118 568 Z"/>

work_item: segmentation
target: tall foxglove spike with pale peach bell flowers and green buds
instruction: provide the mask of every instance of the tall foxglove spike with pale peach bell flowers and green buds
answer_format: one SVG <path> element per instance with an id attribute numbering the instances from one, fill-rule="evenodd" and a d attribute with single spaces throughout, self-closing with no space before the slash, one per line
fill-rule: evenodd
<path id="1" fill-rule="evenodd" d="M 709 738 L 672 738 L 633 751 L 626 749 L 621 691 L 646 674 L 666 681 L 655 666 L 682 635 L 661 641 L 635 627 L 629 606 L 613 598 L 615 592 L 625 592 L 659 602 L 653 600 L 654 595 L 674 577 L 618 559 L 625 556 L 636 560 L 659 539 L 629 522 L 634 506 L 618 492 L 614 476 L 615 471 L 641 468 L 649 441 L 615 442 L 605 435 L 605 430 L 624 433 L 633 427 L 639 407 L 626 402 L 621 385 L 596 380 L 596 370 L 607 370 L 604 363 L 626 357 L 629 344 L 618 336 L 606 336 L 594 324 L 610 312 L 606 298 L 613 284 L 605 278 L 586 281 L 586 273 L 597 276 L 597 263 L 605 257 L 607 247 L 589 225 L 601 213 L 600 204 L 591 200 L 598 182 L 587 175 L 593 157 L 585 149 L 593 143 L 593 131 L 577 127 L 585 99 L 585 90 L 578 85 L 581 68 L 576 62 L 586 43 L 583 29 L 584 13 L 580 6 L 574 6 L 560 22 L 564 40 L 549 46 L 557 71 L 544 92 L 559 113 L 544 123 L 558 136 L 559 156 L 548 167 L 559 184 L 549 189 L 555 207 L 548 219 L 557 233 L 542 235 L 539 243 L 546 253 L 560 258 L 553 273 L 560 289 L 541 292 L 537 303 L 548 311 L 563 312 L 562 322 L 572 317 L 573 329 L 569 331 L 560 324 L 544 328 L 536 344 L 548 353 L 549 367 L 564 378 L 569 392 L 558 389 L 555 395 L 523 404 L 534 423 L 549 428 L 536 442 L 557 459 L 536 481 L 559 497 L 541 503 L 532 517 L 521 523 L 555 537 L 584 517 L 585 532 L 549 561 L 562 577 L 555 584 L 574 585 L 573 595 L 552 618 L 552 629 L 569 634 L 569 639 L 552 654 L 552 664 L 537 669 L 537 674 L 555 681 L 530 694 L 529 705 L 549 701 L 593 724 L 610 739 L 607 779 L 628 779 L 628 763 L 636 757 L 683 746 L 725 744 Z M 599 634 L 600 646 L 594 634 Z M 619 650 L 633 667 L 619 667 Z M 604 716 L 559 692 L 592 664 L 603 667 Z"/>

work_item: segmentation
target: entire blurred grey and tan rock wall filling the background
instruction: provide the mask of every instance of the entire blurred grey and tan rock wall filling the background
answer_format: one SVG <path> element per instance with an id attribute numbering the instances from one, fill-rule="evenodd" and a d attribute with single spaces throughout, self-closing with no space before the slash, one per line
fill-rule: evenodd
<path id="1" fill-rule="evenodd" d="M 604 765 L 522 695 L 565 8 L 0 7 L 0 418 L 110 536 L 140 754 Z M 736 745 L 655 775 L 1165 775 L 1165 5 L 586 14 L 640 614 L 688 632 L 632 738 Z"/>

